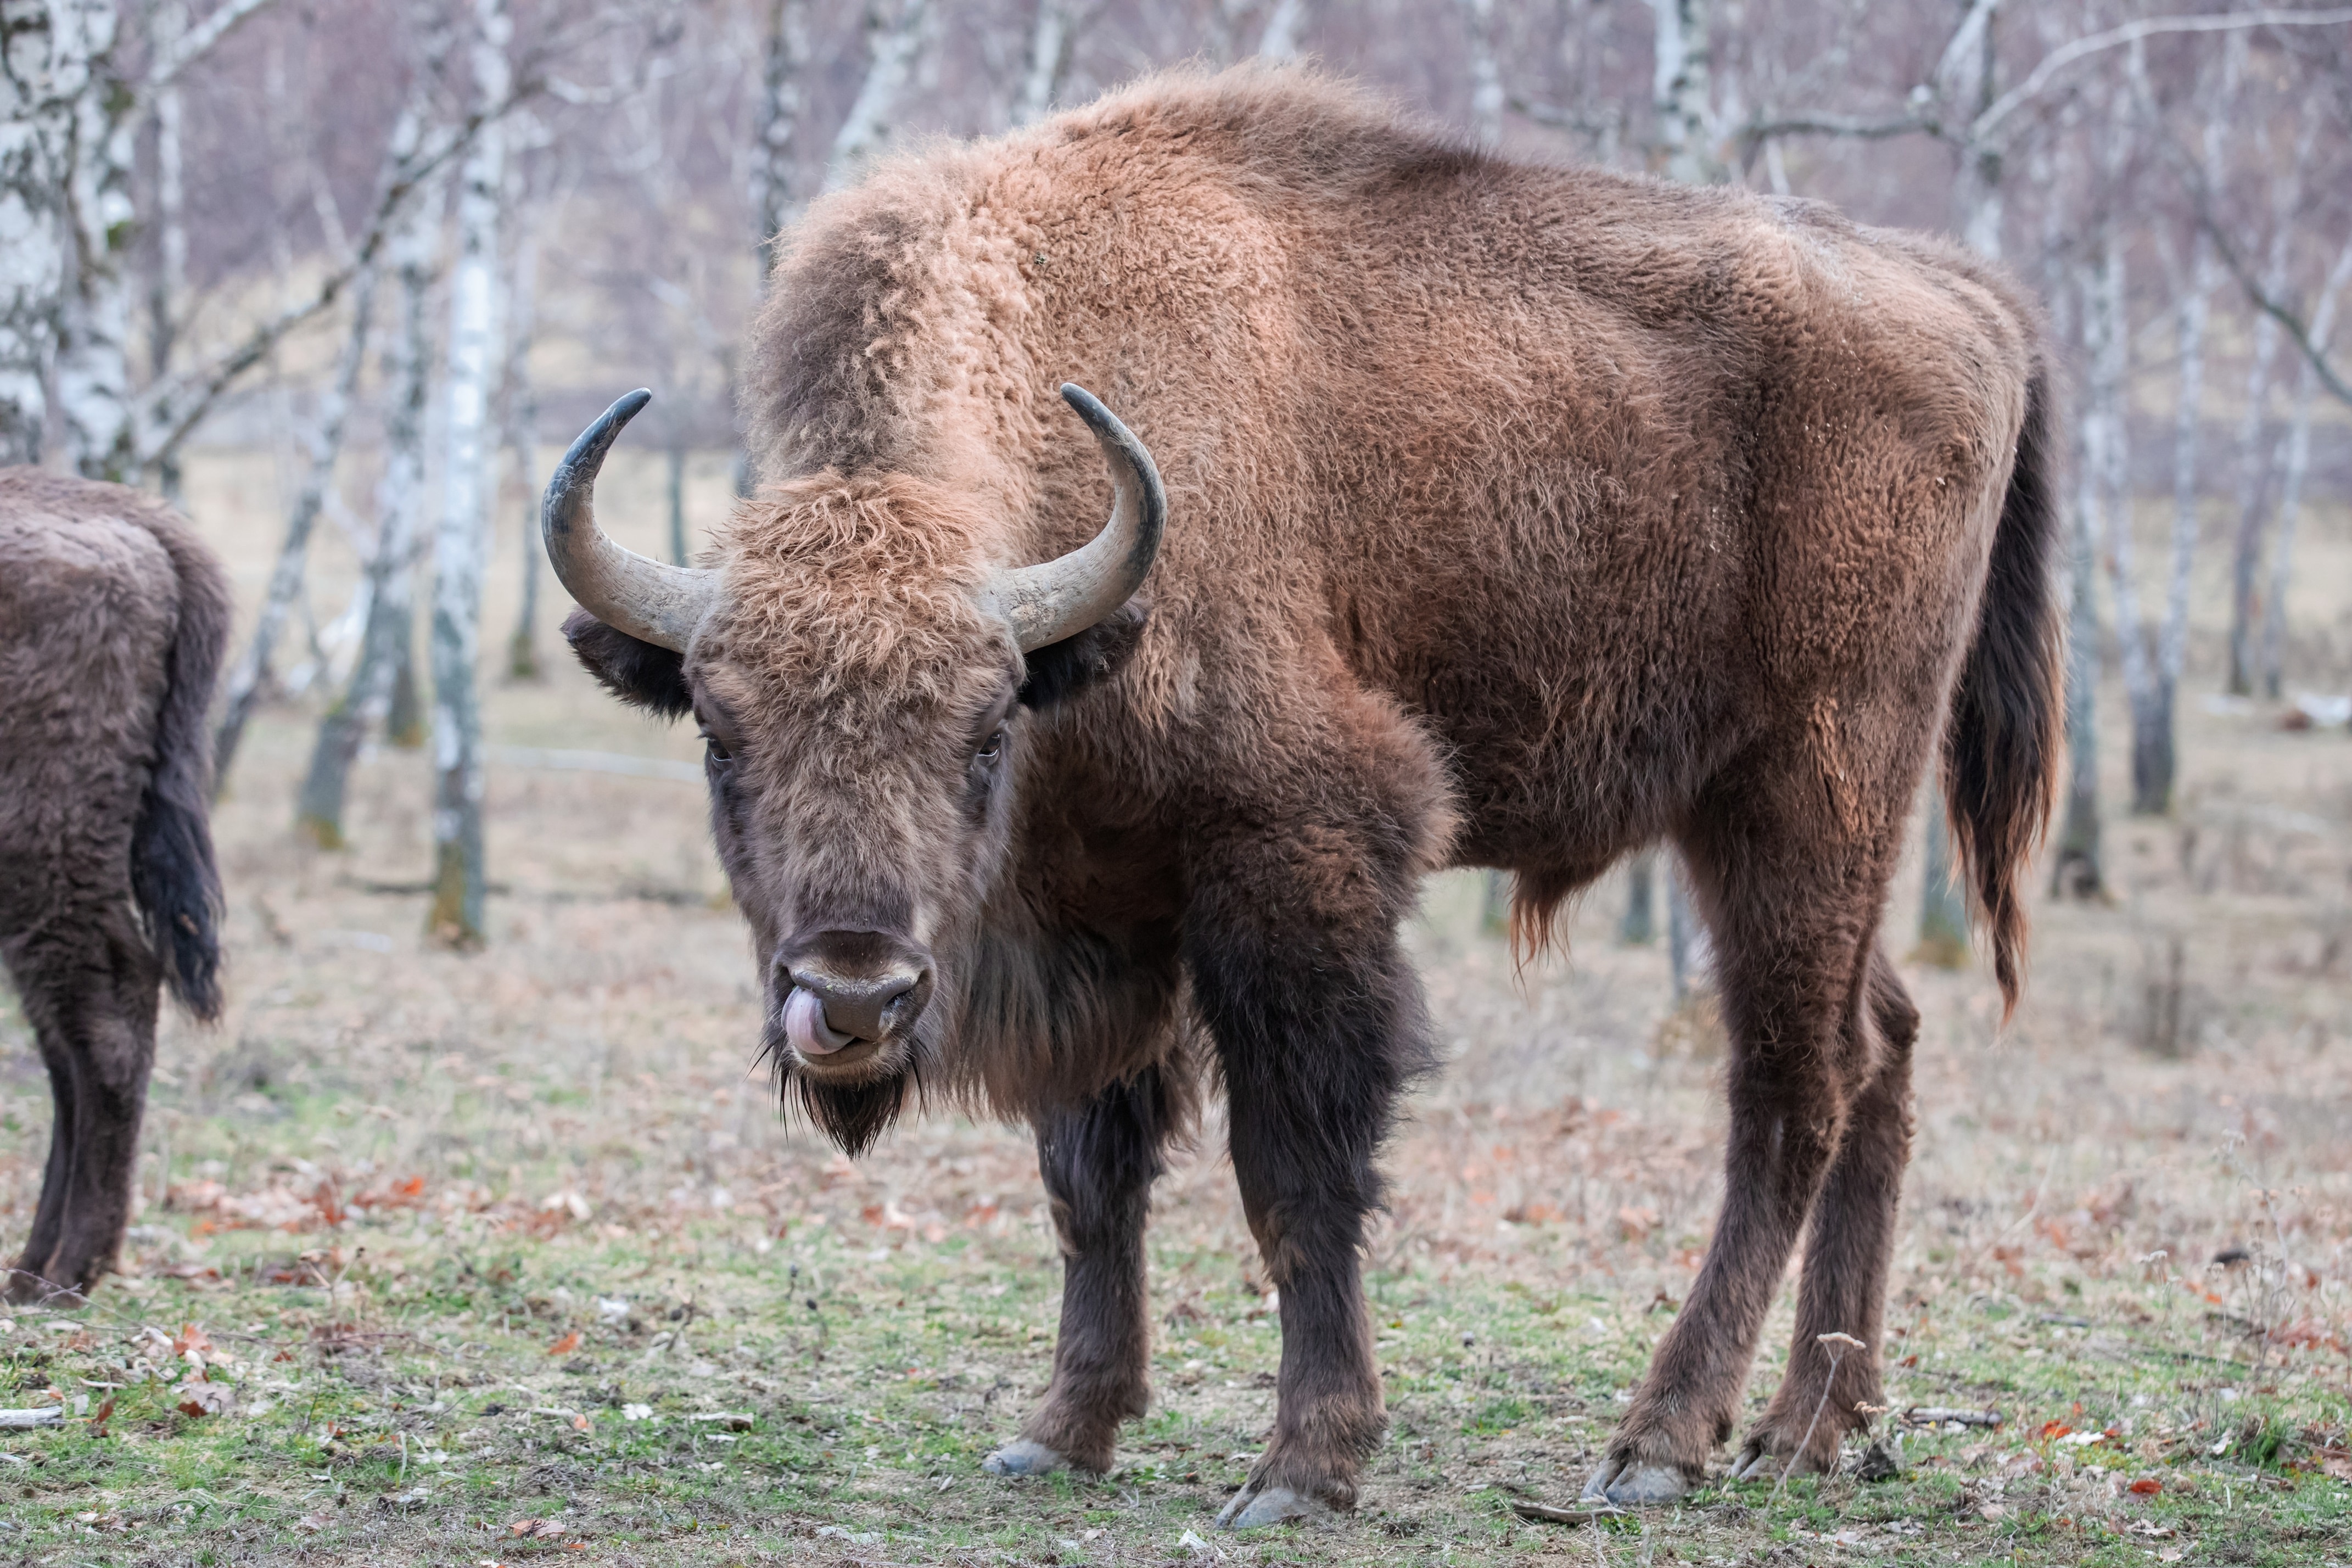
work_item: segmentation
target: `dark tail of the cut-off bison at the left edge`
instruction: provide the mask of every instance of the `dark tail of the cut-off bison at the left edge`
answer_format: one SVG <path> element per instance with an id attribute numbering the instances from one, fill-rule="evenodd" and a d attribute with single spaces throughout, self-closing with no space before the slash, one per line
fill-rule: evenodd
<path id="1" fill-rule="evenodd" d="M 212 858 L 212 689 L 228 644 L 228 578 L 179 520 L 148 520 L 179 574 L 179 625 L 155 715 L 155 766 L 132 830 L 132 898 L 165 983 L 205 1018 L 221 1013 L 221 870 Z"/>

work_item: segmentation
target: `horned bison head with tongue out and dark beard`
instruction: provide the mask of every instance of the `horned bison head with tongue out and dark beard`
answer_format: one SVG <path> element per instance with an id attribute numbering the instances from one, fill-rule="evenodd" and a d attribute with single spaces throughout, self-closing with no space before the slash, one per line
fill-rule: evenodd
<path id="1" fill-rule="evenodd" d="M 635 555 L 597 529 L 593 487 L 642 390 L 548 482 L 548 559 L 586 611 L 564 632 L 619 696 L 701 724 L 764 1046 L 851 1152 L 953 1039 L 941 999 L 969 985 L 1004 865 L 1018 710 L 1108 668 L 1160 550 L 1150 454 L 1087 390 L 1061 395 L 1117 503 L 1091 543 L 1037 567 L 985 567 L 1000 529 L 943 487 L 830 470 L 748 503 L 722 569 Z"/>

